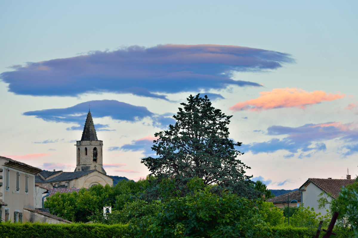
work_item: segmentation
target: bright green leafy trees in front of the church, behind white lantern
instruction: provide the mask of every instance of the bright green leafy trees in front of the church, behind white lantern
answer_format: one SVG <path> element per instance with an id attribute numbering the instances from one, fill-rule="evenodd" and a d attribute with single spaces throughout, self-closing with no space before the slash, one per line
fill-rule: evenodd
<path id="1" fill-rule="evenodd" d="M 120 210 L 124 207 L 125 203 L 129 200 L 130 194 L 127 195 L 124 201 L 124 196 L 127 193 L 135 193 L 140 196 L 141 193 L 150 185 L 150 181 L 154 180 L 153 177 L 147 179 L 140 179 L 137 182 L 132 180 L 121 180 L 116 186 L 111 187 L 96 185 L 89 189 L 82 188 L 78 193 L 56 193 L 45 201 L 44 206 L 50 209 L 50 212 L 56 216 L 62 217 L 69 221 L 87 222 L 89 216 L 97 210 L 102 210 L 103 201 L 106 198 L 113 198 L 116 200 L 117 209 Z M 116 206 L 111 201 L 112 210 L 115 211 Z"/>

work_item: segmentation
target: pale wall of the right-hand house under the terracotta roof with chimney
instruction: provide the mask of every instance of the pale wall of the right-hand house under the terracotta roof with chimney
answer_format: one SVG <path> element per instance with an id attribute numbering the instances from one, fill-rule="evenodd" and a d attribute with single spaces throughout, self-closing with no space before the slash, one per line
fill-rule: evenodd
<path id="1" fill-rule="evenodd" d="M 317 200 L 321 198 L 319 197 L 319 194 L 322 192 L 322 190 L 315 186 L 313 183 L 308 184 L 308 186 L 304 189 L 306 189 L 306 191 L 302 191 L 304 206 L 310 208 L 313 207 L 316 213 L 320 212 L 323 216 L 327 214 L 326 209 L 329 209 L 328 205 L 326 205 L 325 208 L 318 209 Z M 332 198 L 328 197 L 326 193 L 324 194 L 324 196 L 326 196 L 328 202 L 332 201 Z"/>

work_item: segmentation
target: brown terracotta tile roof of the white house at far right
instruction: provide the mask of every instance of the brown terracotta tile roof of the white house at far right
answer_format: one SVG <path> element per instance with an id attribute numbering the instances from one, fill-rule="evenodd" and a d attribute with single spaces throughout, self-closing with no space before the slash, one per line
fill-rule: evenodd
<path id="1" fill-rule="evenodd" d="M 326 179 L 326 178 L 309 178 L 301 187 L 307 187 L 308 184 L 313 183 L 319 189 L 326 193 L 332 194 L 332 197 L 337 199 L 340 193 L 340 189 L 348 184 L 353 184 L 355 179 Z"/>

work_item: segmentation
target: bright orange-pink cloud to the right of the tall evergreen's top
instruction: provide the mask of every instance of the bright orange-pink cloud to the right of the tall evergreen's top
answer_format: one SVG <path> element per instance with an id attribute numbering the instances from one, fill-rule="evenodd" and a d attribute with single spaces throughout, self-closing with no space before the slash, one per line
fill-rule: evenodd
<path id="1" fill-rule="evenodd" d="M 324 91 L 307 92 L 297 88 L 275 88 L 272 91 L 260 92 L 260 97 L 256 99 L 239 102 L 229 108 L 233 111 L 261 111 L 283 107 L 306 108 L 323 101 L 332 101 L 344 97 L 345 95 L 325 93 Z"/>

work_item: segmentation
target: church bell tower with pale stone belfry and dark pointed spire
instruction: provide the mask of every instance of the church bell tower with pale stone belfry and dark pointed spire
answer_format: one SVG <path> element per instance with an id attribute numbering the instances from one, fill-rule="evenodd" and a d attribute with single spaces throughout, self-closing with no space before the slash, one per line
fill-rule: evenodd
<path id="1" fill-rule="evenodd" d="M 96 169 L 101 173 L 107 174 L 105 169 L 103 169 L 102 146 L 103 141 L 97 139 L 92 115 L 88 111 L 81 141 L 76 143 L 77 166 L 75 172 Z"/>

